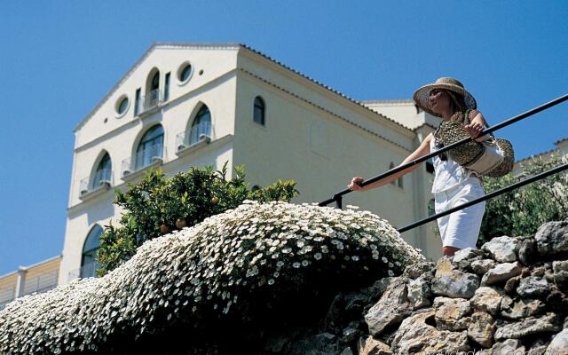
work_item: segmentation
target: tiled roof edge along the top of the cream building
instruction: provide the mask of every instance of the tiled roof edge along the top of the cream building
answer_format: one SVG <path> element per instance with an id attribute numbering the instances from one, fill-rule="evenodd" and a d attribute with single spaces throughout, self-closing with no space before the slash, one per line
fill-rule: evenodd
<path id="1" fill-rule="evenodd" d="M 355 99 L 351 99 L 350 97 L 343 94 L 342 92 L 336 91 L 335 89 L 327 86 L 324 83 L 319 83 L 317 80 L 313 79 L 312 77 L 310 77 L 308 75 L 304 75 L 303 73 L 300 73 L 296 69 L 293 69 L 292 67 L 288 67 L 288 66 L 284 65 L 280 61 L 273 59 L 272 57 L 270 57 L 270 56 L 268 56 L 268 55 L 266 55 L 266 54 L 264 54 L 260 51 L 256 51 L 255 49 L 249 47 L 247 44 L 244 44 L 244 43 L 152 43 L 152 45 L 144 52 L 144 54 L 142 54 L 142 56 L 136 61 L 136 63 L 134 63 L 134 65 L 132 65 L 132 67 L 130 67 L 130 69 L 122 76 L 122 78 L 117 83 L 114 84 L 113 88 L 106 93 L 105 97 L 99 101 L 99 104 L 97 104 L 97 106 L 95 106 L 91 110 L 91 112 L 89 114 L 87 114 L 83 118 L 83 120 L 81 120 L 81 122 L 79 122 L 75 126 L 75 129 L 73 131 L 75 132 L 76 130 L 79 130 L 81 127 L 83 127 L 84 123 L 87 122 L 91 118 L 91 116 L 99 110 L 100 106 L 102 106 L 106 102 L 106 99 L 108 99 L 114 93 L 114 91 L 116 91 L 122 85 L 122 83 L 124 83 L 126 81 L 126 79 L 128 79 L 130 77 L 130 75 L 144 61 L 144 59 L 146 59 L 150 55 L 150 53 L 152 53 L 152 51 L 154 51 L 157 48 L 201 48 L 201 49 L 202 48 L 208 48 L 208 49 L 237 49 L 237 50 L 244 48 L 248 51 L 255 53 L 258 56 L 261 56 L 265 59 L 271 60 L 272 62 L 280 65 L 281 67 L 288 69 L 289 71 L 295 73 L 296 75 L 300 75 L 300 76 L 304 77 L 305 79 L 311 81 L 312 83 L 318 84 L 319 86 L 325 88 L 327 91 L 334 92 L 336 95 L 341 96 L 343 99 L 348 99 L 349 101 L 357 104 L 358 106 L 364 107 L 365 109 L 367 109 L 367 111 L 372 112 L 373 114 L 378 115 L 378 116 L 382 117 L 383 119 L 385 119 L 387 121 L 393 122 L 393 123 L 397 124 L 398 126 L 406 129 L 406 130 L 411 130 L 409 127 L 406 127 L 404 124 L 401 124 L 400 122 L 397 122 L 397 121 L 385 116 L 384 114 L 379 114 L 376 111 L 372 110 L 371 108 L 365 106 L 363 104 L 363 102 L 365 102 L 365 101 L 357 101 Z M 384 101 L 390 101 L 390 100 L 384 100 Z M 414 102 L 413 100 L 396 100 L 396 101 Z M 367 101 L 367 102 L 369 102 L 369 101 Z M 373 101 L 373 102 L 379 102 L 379 100 Z"/>

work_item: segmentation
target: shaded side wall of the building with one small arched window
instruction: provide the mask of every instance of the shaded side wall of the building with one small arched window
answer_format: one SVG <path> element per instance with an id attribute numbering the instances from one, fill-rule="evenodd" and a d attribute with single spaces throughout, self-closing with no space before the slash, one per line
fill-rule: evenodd
<path id="1" fill-rule="evenodd" d="M 234 161 L 245 164 L 253 185 L 294 179 L 301 192 L 294 203 L 327 200 L 353 176 L 373 177 L 389 170 L 390 162 L 398 165 L 430 132 L 426 128 L 418 140 L 412 130 L 295 75 L 280 73 L 278 67 L 269 70 L 272 63 L 247 53 L 239 57 L 239 67 Z M 311 90 L 306 91 L 306 86 Z M 265 126 L 253 120 L 256 95 L 266 102 Z M 428 215 L 429 177 L 422 164 L 403 177 L 404 188 L 385 185 L 350 193 L 343 197 L 343 206 L 358 205 L 396 227 L 407 225 Z M 403 238 L 438 257 L 441 241 L 430 225 L 403 233 Z"/>

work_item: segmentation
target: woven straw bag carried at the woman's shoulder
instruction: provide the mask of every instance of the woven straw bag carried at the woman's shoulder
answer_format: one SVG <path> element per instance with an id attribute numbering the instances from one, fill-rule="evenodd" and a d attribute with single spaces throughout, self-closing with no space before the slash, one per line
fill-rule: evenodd
<path id="1" fill-rule="evenodd" d="M 463 124 L 469 123 L 469 111 L 463 114 L 461 121 L 444 121 L 440 124 L 438 134 L 444 146 L 469 138 L 469 133 L 463 130 Z M 489 127 L 485 118 L 483 121 L 485 126 Z M 507 175 L 513 170 L 515 163 L 512 144 L 507 139 L 495 138 L 493 133 L 485 134 L 481 142 L 470 140 L 452 148 L 448 154 L 454 162 L 488 177 Z"/>

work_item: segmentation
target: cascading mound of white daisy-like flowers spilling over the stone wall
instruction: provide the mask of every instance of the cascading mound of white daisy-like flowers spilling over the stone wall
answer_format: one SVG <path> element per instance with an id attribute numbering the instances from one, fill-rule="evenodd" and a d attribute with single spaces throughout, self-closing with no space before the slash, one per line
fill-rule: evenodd
<path id="1" fill-rule="evenodd" d="M 231 314 L 246 319 L 243 312 L 263 304 L 251 301 L 255 295 L 302 292 L 318 280 L 376 280 L 424 260 L 386 220 L 347 207 L 245 200 L 146 241 L 104 277 L 8 304 L 0 353 L 106 351 L 113 337 L 133 341 L 176 319 L 194 327 Z"/>

